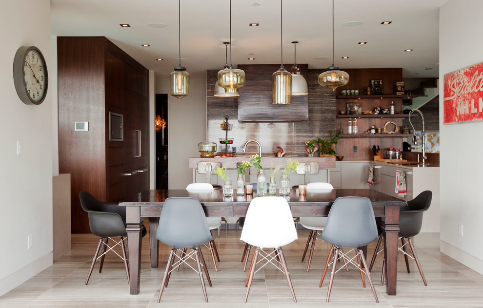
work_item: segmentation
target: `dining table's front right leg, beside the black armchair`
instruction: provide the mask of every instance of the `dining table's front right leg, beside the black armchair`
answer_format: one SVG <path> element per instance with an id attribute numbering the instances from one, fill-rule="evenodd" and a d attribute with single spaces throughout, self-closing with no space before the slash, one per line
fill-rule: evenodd
<path id="1" fill-rule="evenodd" d="M 396 295 L 398 273 L 399 207 L 385 207 L 382 219 L 386 293 Z"/>

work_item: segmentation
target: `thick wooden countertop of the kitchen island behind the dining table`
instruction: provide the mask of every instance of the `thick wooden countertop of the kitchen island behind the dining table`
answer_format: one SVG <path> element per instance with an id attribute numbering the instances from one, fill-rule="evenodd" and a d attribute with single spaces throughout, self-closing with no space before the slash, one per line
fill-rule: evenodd
<path id="1" fill-rule="evenodd" d="M 241 155 L 241 156 L 234 156 L 234 157 L 190 157 L 189 158 L 189 168 L 196 169 L 198 168 L 199 162 L 219 162 L 221 166 L 226 166 L 227 169 L 236 169 L 237 163 L 240 163 L 243 160 L 250 160 L 251 155 Z M 287 162 L 289 159 L 296 159 L 299 162 L 318 162 L 319 169 L 330 169 L 335 168 L 336 161 L 335 157 L 307 157 L 307 156 L 288 156 L 288 157 L 275 157 L 275 156 L 262 156 L 262 166 L 265 168 L 270 168 L 273 163 L 273 166 L 277 166 Z M 264 168 L 264 169 L 265 169 Z"/>

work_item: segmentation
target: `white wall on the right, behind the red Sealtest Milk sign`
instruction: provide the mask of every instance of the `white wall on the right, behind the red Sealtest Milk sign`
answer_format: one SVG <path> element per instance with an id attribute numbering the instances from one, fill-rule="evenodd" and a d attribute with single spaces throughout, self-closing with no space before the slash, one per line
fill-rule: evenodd
<path id="1" fill-rule="evenodd" d="M 450 0 L 440 8 L 442 82 L 444 74 L 483 61 L 478 35 L 482 11 L 481 0 Z M 443 125 L 440 114 L 441 251 L 483 274 L 482 132 L 483 122 Z M 458 235 L 459 224 L 463 236 Z"/>

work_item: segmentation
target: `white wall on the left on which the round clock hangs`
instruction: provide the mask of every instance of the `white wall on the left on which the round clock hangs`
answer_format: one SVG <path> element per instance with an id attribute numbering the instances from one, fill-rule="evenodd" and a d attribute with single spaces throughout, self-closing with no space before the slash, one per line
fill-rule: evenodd
<path id="1" fill-rule="evenodd" d="M 0 295 L 52 264 L 52 90 L 41 105 L 25 105 L 15 91 L 12 65 L 20 46 L 33 45 L 42 51 L 50 74 L 53 67 L 50 1 L 3 1 L 1 6 Z M 23 143 L 22 155 L 17 141 Z"/>

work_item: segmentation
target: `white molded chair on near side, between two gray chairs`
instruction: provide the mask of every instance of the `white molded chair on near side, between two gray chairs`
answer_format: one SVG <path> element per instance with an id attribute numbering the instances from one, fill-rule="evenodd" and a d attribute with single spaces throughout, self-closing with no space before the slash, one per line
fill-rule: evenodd
<path id="1" fill-rule="evenodd" d="M 245 287 L 247 289 L 244 301 L 246 302 L 248 298 L 248 292 L 250 291 L 257 263 L 265 259 L 267 262 L 258 270 L 261 270 L 268 263 L 272 263 L 277 269 L 283 271 L 287 278 L 290 291 L 292 292 L 294 302 L 297 302 L 282 251 L 283 245 L 290 244 L 297 239 L 297 231 L 295 230 L 292 212 L 290 212 L 285 198 L 273 196 L 254 198 L 250 202 L 250 206 L 246 212 L 240 239 L 249 245 L 257 247 L 253 254 L 250 270 L 245 281 Z M 263 248 L 274 248 L 274 251 L 267 253 L 263 251 Z M 262 260 L 257 262 L 259 256 L 262 256 Z"/>

